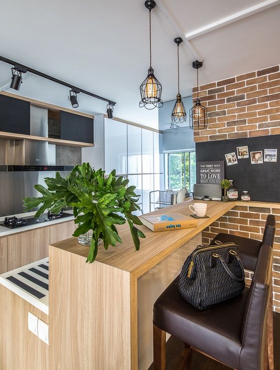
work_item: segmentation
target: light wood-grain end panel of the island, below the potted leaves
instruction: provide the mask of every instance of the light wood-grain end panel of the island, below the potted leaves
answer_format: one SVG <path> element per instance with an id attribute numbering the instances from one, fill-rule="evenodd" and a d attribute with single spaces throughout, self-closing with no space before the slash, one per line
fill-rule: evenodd
<path id="1" fill-rule="evenodd" d="M 49 248 L 50 369 L 131 369 L 130 273 Z"/>

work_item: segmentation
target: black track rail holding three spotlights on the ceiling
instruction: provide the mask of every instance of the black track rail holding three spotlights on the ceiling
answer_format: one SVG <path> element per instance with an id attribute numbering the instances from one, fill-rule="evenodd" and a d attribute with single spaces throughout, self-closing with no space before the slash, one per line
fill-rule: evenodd
<path id="1" fill-rule="evenodd" d="M 96 98 L 96 99 L 99 99 L 99 100 L 103 100 L 104 102 L 108 102 L 108 104 L 114 106 L 115 104 L 117 104 L 116 102 L 114 102 L 113 100 L 110 100 L 110 99 L 107 99 L 107 98 L 103 98 L 102 96 L 99 96 L 99 95 L 96 95 L 96 94 L 93 94 L 92 92 L 90 91 L 87 91 L 87 90 L 83 90 L 83 89 L 80 89 L 79 87 L 76 87 L 76 86 L 73 86 L 71 85 L 70 83 L 68 82 L 65 82 L 65 81 L 62 81 L 62 80 L 59 80 L 58 78 L 55 78 L 55 77 L 52 77 L 46 73 L 43 73 L 43 72 L 40 72 L 36 69 L 33 69 L 33 68 L 30 68 L 26 65 L 22 65 L 18 62 L 14 62 L 14 61 L 11 61 L 10 59 L 7 59 L 5 57 L 1 57 L 0 56 L 0 61 L 1 62 L 5 62 L 5 63 L 8 63 L 8 64 L 11 64 L 13 66 L 15 66 L 16 68 L 20 69 L 22 73 L 26 73 L 26 72 L 30 72 L 30 73 L 33 73 L 33 74 L 36 74 L 37 76 L 40 76 L 40 77 L 43 77 L 43 78 L 46 78 L 50 81 L 53 81 L 53 82 L 56 82 L 60 85 L 63 85 L 63 86 L 66 86 L 66 87 L 69 87 L 70 89 L 72 89 L 73 91 L 79 91 L 85 95 L 89 95 L 89 96 L 92 96 L 93 98 Z"/>

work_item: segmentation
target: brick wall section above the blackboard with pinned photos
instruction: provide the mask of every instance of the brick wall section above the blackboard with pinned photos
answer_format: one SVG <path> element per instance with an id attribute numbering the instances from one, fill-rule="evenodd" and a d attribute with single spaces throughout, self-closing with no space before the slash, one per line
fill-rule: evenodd
<path id="1" fill-rule="evenodd" d="M 280 134 L 279 65 L 199 86 L 199 97 L 208 129 L 195 130 L 195 142 Z"/>

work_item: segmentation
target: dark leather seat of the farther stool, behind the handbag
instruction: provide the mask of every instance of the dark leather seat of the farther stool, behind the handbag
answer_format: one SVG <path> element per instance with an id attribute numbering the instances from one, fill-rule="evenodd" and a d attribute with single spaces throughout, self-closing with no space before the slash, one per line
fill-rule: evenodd
<path id="1" fill-rule="evenodd" d="M 224 233 L 216 235 L 210 244 L 214 244 L 215 240 L 219 240 L 222 243 L 235 243 L 238 246 L 238 254 L 240 255 L 244 268 L 255 271 L 262 242 Z"/>

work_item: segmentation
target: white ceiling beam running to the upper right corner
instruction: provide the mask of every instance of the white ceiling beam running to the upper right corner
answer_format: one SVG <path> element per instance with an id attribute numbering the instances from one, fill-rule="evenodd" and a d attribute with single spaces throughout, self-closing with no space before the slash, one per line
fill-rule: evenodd
<path id="1" fill-rule="evenodd" d="M 158 2 L 158 1 L 157 1 Z M 216 22 L 207 24 L 206 26 L 200 27 L 194 31 L 188 32 L 185 34 L 185 38 L 190 41 L 194 39 L 195 37 L 204 35 L 208 32 L 211 32 L 213 30 L 216 30 L 218 28 L 224 27 L 227 24 L 231 24 L 234 22 L 237 22 L 240 19 L 244 19 L 249 17 L 252 14 L 259 13 L 263 10 L 269 9 L 273 6 L 276 6 L 280 4 L 280 0 L 267 0 L 260 2 L 257 5 L 251 6 L 249 8 L 246 8 L 244 10 L 238 11 L 237 13 L 231 14 L 225 18 L 219 19 Z"/>

